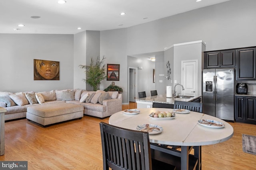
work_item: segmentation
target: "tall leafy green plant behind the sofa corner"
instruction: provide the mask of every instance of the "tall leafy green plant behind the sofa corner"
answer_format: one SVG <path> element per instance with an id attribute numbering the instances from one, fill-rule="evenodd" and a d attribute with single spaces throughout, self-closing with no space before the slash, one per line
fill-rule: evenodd
<path id="1" fill-rule="evenodd" d="M 102 60 L 100 61 L 100 57 L 97 57 L 96 62 L 91 58 L 91 63 L 89 66 L 79 65 L 80 68 L 85 69 L 86 79 L 82 79 L 84 82 L 92 86 L 93 91 L 99 90 L 100 82 L 107 78 L 104 60 L 106 59 L 103 56 Z"/>

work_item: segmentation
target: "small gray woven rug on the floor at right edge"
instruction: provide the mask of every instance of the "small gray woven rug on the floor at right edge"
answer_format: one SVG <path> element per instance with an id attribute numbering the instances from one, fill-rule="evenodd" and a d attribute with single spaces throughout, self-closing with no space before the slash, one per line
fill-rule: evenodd
<path id="1" fill-rule="evenodd" d="M 243 151 L 250 154 L 256 155 L 256 136 L 242 135 L 243 139 Z"/>

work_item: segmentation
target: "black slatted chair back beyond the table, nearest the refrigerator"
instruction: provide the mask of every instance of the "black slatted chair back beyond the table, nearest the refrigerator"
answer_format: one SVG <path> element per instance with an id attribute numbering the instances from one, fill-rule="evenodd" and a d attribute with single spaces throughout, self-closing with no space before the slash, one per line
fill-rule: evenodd
<path id="1" fill-rule="evenodd" d="M 175 100 L 173 107 L 174 109 L 187 109 L 202 113 L 202 103 L 199 102 L 182 102 Z"/>

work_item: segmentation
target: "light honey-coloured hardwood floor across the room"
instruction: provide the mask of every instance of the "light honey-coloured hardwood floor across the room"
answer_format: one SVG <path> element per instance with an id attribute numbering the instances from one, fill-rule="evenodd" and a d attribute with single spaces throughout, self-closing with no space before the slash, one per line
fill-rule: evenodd
<path id="1" fill-rule="evenodd" d="M 136 108 L 136 103 L 122 109 Z M 84 116 L 40 127 L 26 119 L 5 123 L 5 154 L 0 161 L 28 161 L 28 170 L 102 170 L 100 121 Z M 255 170 L 256 155 L 242 151 L 242 134 L 256 135 L 256 125 L 230 123 L 234 136 L 202 147 L 202 170 Z M 177 129 L 178 130 L 178 129 Z"/>

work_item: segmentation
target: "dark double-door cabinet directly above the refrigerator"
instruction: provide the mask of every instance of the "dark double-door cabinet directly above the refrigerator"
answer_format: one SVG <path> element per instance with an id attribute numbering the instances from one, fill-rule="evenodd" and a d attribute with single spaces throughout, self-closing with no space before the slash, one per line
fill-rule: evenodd
<path id="1" fill-rule="evenodd" d="M 205 68 L 235 67 L 235 50 L 223 50 L 204 53 Z"/>

